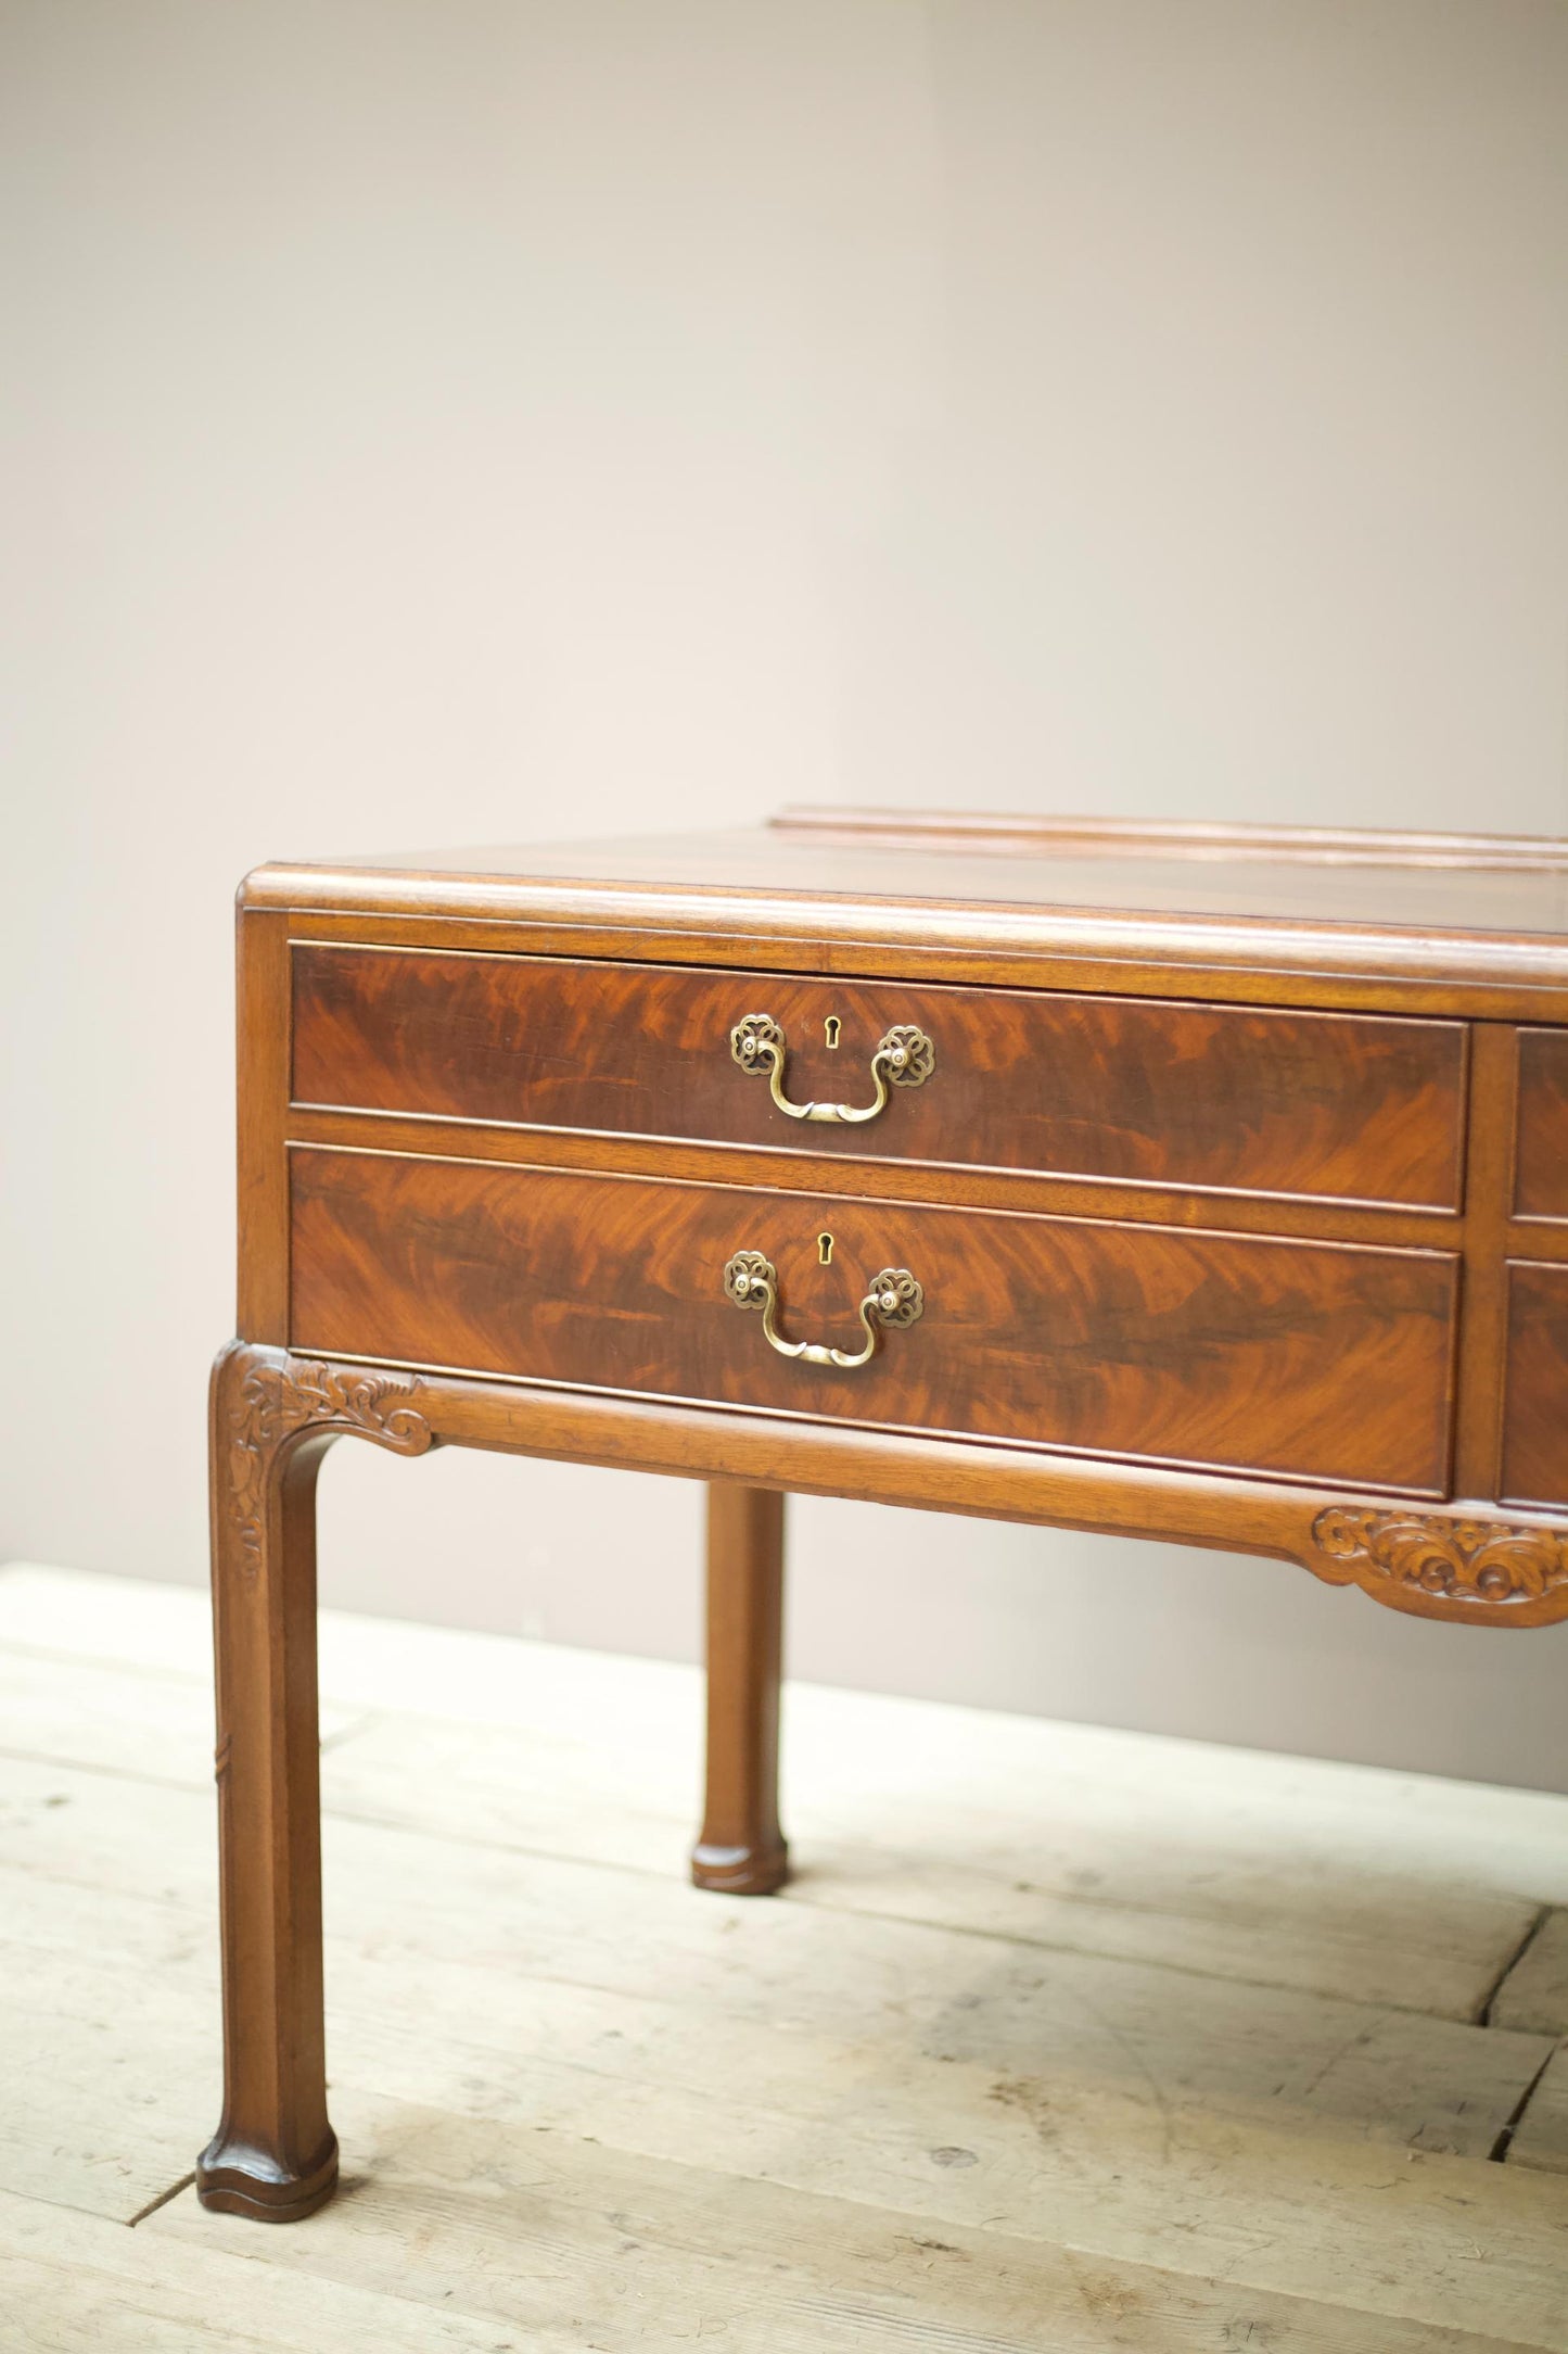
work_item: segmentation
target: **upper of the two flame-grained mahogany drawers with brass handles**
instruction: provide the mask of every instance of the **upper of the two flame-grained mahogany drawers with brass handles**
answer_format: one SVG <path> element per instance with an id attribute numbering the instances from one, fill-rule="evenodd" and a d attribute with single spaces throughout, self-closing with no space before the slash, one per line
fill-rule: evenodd
<path id="1" fill-rule="evenodd" d="M 896 1026 L 931 1038 L 933 1071 L 867 1123 L 795 1121 L 769 1057 L 731 1052 L 748 1015 L 783 1033 L 797 1104 L 872 1104 Z M 299 944 L 294 1099 L 1450 1210 L 1465 1026 Z"/>

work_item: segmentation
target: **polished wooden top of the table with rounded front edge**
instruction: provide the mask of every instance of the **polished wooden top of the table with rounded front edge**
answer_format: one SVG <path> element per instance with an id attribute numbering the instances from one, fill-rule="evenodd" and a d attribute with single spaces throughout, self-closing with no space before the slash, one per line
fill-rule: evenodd
<path id="1" fill-rule="evenodd" d="M 512 925 L 510 944 L 567 953 L 762 965 L 809 946 L 811 970 L 1568 1019 L 1568 843 L 1526 836 L 785 810 L 273 864 L 242 904 Z"/>

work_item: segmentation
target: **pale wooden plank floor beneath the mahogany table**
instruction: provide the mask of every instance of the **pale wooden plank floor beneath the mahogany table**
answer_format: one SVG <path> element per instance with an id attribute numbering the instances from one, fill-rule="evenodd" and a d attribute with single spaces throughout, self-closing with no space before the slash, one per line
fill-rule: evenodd
<path id="1" fill-rule="evenodd" d="M 205 1605 L 0 1575 L 7 2354 L 1568 2354 L 1568 1801 L 797 1690 L 745 1904 L 686 1669 L 329 1617 L 322 1690 L 346 2189 L 263 2229 Z"/>

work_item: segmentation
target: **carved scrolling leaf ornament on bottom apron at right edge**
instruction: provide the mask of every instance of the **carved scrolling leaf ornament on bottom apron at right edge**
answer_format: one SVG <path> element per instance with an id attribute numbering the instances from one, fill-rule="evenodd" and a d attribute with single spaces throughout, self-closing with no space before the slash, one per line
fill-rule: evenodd
<path id="1" fill-rule="evenodd" d="M 1312 1523 L 1324 1577 L 1432 1594 L 1467 1610 L 1507 1612 L 1568 1587 L 1568 1530 L 1509 1521 L 1446 1521 L 1420 1511 L 1333 1504 Z"/>

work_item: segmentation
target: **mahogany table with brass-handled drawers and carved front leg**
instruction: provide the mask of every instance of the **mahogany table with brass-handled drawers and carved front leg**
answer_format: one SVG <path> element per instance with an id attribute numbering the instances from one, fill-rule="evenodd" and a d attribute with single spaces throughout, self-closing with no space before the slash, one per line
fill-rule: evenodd
<path id="1" fill-rule="evenodd" d="M 839 810 L 247 880 L 197 2182 L 275 2220 L 336 2180 L 343 1434 L 715 1483 L 708 1888 L 785 1874 L 790 1488 L 1568 1617 L 1568 845 Z"/>

